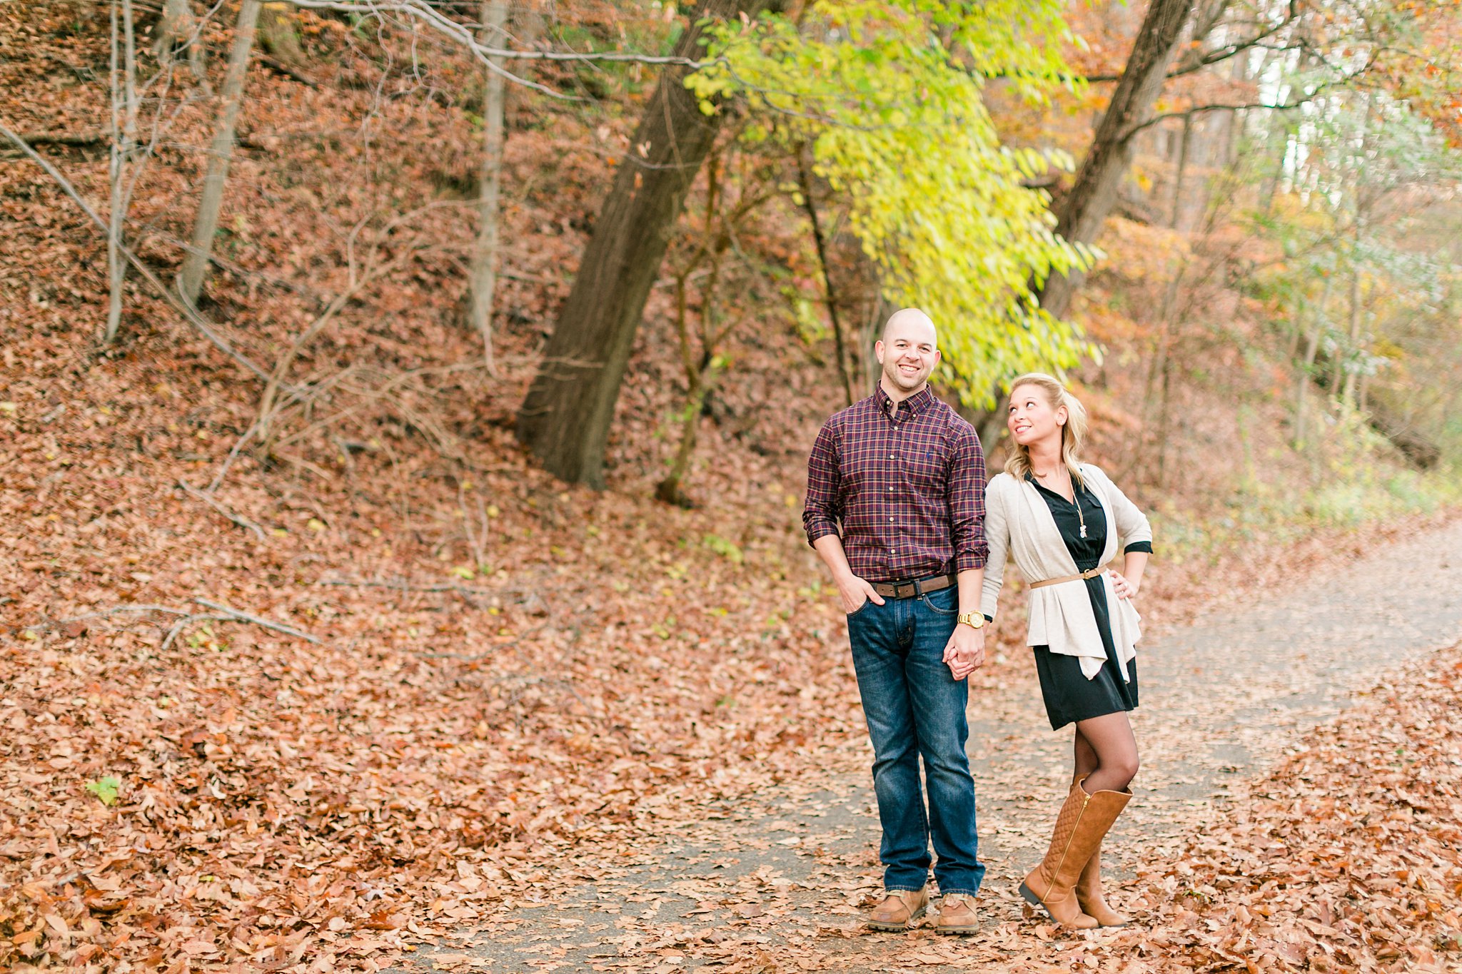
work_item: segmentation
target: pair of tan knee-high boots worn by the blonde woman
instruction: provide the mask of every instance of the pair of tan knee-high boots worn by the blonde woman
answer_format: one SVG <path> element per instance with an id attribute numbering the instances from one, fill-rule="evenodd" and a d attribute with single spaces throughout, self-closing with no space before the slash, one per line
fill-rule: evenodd
<path id="1" fill-rule="evenodd" d="M 1056 818 L 1045 859 L 1020 883 L 1026 902 L 1044 907 L 1063 927 L 1091 930 L 1099 926 L 1076 902 L 1076 881 L 1130 797 L 1130 791 L 1086 794 L 1080 781 L 1072 786 Z"/>

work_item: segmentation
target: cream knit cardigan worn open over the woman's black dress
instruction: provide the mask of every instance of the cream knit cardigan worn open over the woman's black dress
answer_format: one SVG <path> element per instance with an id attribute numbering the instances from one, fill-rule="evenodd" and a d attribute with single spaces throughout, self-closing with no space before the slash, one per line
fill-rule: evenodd
<path id="1" fill-rule="evenodd" d="M 1080 463 L 1077 469 L 1086 489 L 1096 495 L 1107 513 L 1107 545 L 1098 564 L 1105 565 L 1117 556 L 1118 539 L 1121 545 L 1152 540 L 1152 527 L 1146 515 L 1102 473 L 1101 467 Z M 1077 572 L 1076 559 L 1061 540 L 1051 508 L 1029 480 L 1016 480 L 1009 473 L 990 479 L 985 488 L 985 539 L 990 542 L 990 559 L 985 562 L 985 587 L 980 609 L 987 616 L 996 615 L 1007 556 L 1015 558 L 1020 574 L 1029 581 Z M 1127 660 L 1137 654 L 1135 647 L 1142 638 L 1142 618 L 1132 607 L 1132 600 L 1117 597 L 1105 572 L 1099 577 L 1107 590 L 1111 638 L 1121 663 L 1121 679 L 1132 682 L 1127 675 Z M 1102 648 L 1096 615 L 1092 612 L 1083 581 L 1031 588 L 1026 645 L 1048 645 L 1051 653 L 1080 657 L 1086 679 L 1096 676 L 1107 660 L 1107 651 Z"/>

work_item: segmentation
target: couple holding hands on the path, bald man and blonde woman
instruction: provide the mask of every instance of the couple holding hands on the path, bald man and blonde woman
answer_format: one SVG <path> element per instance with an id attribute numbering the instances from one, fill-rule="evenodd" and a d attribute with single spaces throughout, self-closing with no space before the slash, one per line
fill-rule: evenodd
<path id="1" fill-rule="evenodd" d="M 1051 727 L 1076 726 L 1070 793 L 1020 895 L 1066 927 L 1120 926 L 1102 900 L 1101 843 L 1137 772 L 1132 597 L 1152 552 L 1148 518 L 1079 461 L 1086 410 L 1057 380 L 1032 372 L 1010 386 L 1010 459 L 987 485 L 974 426 L 928 387 L 940 358 L 928 315 L 898 311 L 874 349 L 879 387 L 817 434 L 803 511 L 848 613 L 873 742 L 885 872 L 868 926 L 904 930 L 924 916 L 933 843 L 936 930 L 978 930 L 985 867 L 965 678 L 984 662 L 1006 558 L 1031 590 L 1026 643 Z M 1102 570 L 1118 539 L 1121 571 Z"/>

